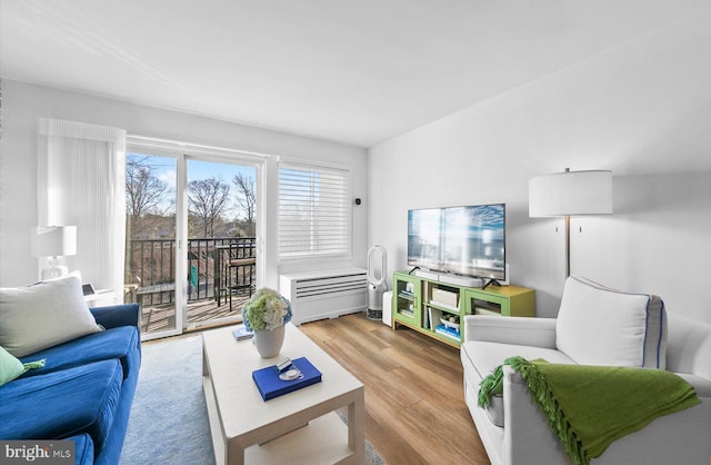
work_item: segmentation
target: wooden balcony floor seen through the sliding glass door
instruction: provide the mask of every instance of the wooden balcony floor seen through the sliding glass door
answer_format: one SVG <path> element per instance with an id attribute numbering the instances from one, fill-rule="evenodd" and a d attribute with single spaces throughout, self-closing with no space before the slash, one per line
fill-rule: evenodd
<path id="1" fill-rule="evenodd" d="M 222 300 L 218 306 L 217 300 L 207 298 L 188 303 L 188 326 L 193 324 L 209 324 L 218 318 L 241 316 L 242 307 L 249 299 L 249 295 L 232 296 L 232 310 L 230 303 Z M 141 332 L 152 333 L 176 328 L 176 304 L 143 305 L 141 308 Z"/>

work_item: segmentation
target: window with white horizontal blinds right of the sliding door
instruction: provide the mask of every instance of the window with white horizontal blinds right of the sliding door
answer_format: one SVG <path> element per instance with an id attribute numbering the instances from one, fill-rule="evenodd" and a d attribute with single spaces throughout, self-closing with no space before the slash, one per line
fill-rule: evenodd
<path id="1" fill-rule="evenodd" d="M 349 255 L 350 172 L 281 164 L 279 167 L 279 256 Z"/>

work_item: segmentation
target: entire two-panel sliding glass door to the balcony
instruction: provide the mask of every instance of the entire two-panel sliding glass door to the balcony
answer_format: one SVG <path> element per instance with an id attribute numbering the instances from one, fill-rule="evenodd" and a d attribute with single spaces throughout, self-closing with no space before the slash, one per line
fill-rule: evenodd
<path id="1" fill-rule="evenodd" d="M 241 320 L 259 280 L 260 170 L 129 145 L 124 300 L 141 305 L 143 338 Z"/>

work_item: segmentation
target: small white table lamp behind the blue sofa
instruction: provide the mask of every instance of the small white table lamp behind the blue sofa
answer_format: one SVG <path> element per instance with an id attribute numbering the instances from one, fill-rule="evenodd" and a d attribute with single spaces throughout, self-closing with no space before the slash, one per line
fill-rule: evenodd
<path id="1" fill-rule="evenodd" d="M 48 257 L 47 267 L 42 268 L 42 280 L 67 275 L 66 266 L 59 258 L 77 255 L 76 226 L 37 226 L 32 228 L 31 249 L 33 257 Z"/>

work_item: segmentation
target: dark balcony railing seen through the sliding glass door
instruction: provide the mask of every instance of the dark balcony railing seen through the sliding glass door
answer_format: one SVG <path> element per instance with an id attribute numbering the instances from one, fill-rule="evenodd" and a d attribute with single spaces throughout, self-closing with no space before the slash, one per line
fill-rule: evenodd
<path id="1" fill-rule="evenodd" d="M 257 247 L 253 237 L 188 239 L 186 278 L 188 301 L 216 299 L 256 285 Z M 176 289 L 176 240 L 129 239 L 126 260 L 126 301 L 156 306 L 172 304 Z"/>

